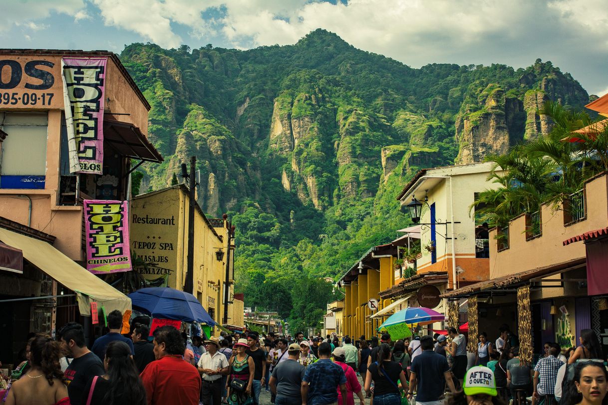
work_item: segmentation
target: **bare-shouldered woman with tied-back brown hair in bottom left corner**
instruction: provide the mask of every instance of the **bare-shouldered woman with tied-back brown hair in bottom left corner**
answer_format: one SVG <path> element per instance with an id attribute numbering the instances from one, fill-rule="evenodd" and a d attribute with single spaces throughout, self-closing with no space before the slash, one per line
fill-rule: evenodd
<path id="1" fill-rule="evenodd" d="M 69 405 L 60 356 L 61 346 L 50 336 L 33 338 L 28 357 L 30 369 L 10 387 L 5 404 Z"/>

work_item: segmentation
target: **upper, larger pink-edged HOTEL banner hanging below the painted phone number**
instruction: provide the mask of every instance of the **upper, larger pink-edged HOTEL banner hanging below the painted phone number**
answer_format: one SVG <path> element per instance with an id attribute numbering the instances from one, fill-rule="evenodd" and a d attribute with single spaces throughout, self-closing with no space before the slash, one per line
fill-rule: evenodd
<path id="1" fill-rule="evenodd" d="M 63 58 L 70 172 L 102 174 L 103 106 L 108 58 Z"/>

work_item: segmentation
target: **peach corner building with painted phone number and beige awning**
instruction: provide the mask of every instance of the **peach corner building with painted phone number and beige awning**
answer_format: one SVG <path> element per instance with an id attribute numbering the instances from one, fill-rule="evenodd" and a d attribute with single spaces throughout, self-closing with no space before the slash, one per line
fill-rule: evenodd
<path id="1" fill-rule="evenodd" d="M 127 200 L 132 162 L 162 157 L 146 137 L 150 105 L 114 53 L 0 49 L 0 72 L 0 256 L 22 262 L 22 273 L 0 262 L 13 345 L 0 361 L 10 364 L 29 332 L 80 321 L 92 336 L 91 318 L 81 318 L 92 302 L 98 313 L 131 309 L 85 270 L 83 200 Z M 117 274 L 102 277 L 120 285 Z"/>

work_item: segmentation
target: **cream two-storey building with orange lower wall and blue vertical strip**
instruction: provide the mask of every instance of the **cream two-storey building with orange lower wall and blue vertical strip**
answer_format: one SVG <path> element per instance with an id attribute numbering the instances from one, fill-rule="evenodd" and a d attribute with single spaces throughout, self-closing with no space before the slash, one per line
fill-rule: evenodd
<path id="1" fill-rule="evenodd" d="M 416 214 L 410 214 L 417 216 L 413 222 L 419 225 L 404 228 L 404 236 L 392 243 L 407 251 L 407 243 L 420 240 L 420 253 L 405 259 L 414 274 L 404 276 L 403 271 L 396 271 L 395 285 L 379 292 L 384 302 L 393 302 L 372 318 L 382 320 L 407 307 L 447 313 L 447 300 L 441 294 L 488 279 L 489 234 L 471 207 L 475 194 L 492 186 L 486 180 L 490 170 L 490 163 L 423 169 L 403 188 L 398 196 L 401 207 L 413 211 L 408 205 L 416 200 Z M 445 327 L 444 322 L 437 322 L 426 330 L 430 333 Z"/>

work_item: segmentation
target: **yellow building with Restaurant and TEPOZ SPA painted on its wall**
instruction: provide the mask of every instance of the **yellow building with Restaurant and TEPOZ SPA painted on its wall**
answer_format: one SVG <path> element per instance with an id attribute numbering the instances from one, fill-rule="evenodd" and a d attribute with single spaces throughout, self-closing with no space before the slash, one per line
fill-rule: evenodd
<path id="1" fill-rule="evenodd" d="M 147 285 L 183 290 L 187 271 L 189 204 L 185 185 L 133 198 L 131 251 L 138 258 L 134 270 Z M 234 307 L 233 229 L 226 218 L 207 219 L 198 204 L 194 227 L 194 295 L 218 324 L 241 326 L 242 321 L 235 324 L 231 319 L 239 316 L 237 309 L 231 308 Z"/>

